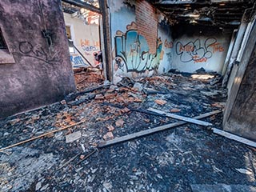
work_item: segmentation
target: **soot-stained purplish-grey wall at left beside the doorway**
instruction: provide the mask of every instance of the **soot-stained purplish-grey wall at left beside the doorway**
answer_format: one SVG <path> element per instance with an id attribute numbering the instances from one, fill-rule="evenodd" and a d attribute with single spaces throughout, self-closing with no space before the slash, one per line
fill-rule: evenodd
<path id="1" fill-rule="evenodd" d="M 0 118 L 75 90 L 60 1 L 1 1 L 0 27 L 15 62 L 0 64 Z"/>

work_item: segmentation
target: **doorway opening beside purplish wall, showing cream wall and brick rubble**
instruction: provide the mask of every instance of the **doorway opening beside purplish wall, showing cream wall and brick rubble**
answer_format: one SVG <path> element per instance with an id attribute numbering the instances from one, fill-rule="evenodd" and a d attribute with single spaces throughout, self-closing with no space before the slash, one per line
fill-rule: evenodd
<path id="1" fill-rule="evenodd" d="M 98 7 L 98 1 L 91 3 Z M 62 11 L 77 90 L 104 82 L 101 14 L 64 1 Z"/>

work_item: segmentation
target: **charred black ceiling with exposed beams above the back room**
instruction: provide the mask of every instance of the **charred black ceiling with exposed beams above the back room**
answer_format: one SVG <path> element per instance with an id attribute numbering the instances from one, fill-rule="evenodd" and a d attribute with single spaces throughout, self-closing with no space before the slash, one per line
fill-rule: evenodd
<path id="1" fill-rule="evenodd" d="M 255 10 L 255 0 L 153 0 L 149 1 L 166 14 L 172 24 L 236 27 L 246 11 L 249 18 Z"/>

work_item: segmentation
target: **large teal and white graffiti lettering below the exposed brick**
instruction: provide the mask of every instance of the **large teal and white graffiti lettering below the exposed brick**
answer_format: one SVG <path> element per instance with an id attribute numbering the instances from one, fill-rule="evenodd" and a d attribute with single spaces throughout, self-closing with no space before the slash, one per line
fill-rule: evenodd
<path id="1" fill-rule="evenodd" d="M 146 70 L 157 70 L 162 53 L 161 39 L 157 40 L 155 54 L 150 54 L 146 38 L 138 34 L 134 22 L 127 26 L 126 33 L 118 31 L 114 38 L 116 64 L 118 69 L 125 72 L 142 73 Z"/>

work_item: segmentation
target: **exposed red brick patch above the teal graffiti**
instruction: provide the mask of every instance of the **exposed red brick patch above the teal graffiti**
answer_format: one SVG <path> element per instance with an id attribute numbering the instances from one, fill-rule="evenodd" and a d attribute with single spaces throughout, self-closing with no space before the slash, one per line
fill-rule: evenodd
<path id="1" fill-rule="evenodd" d="M 154 6 L 145 0 L 136 1 L 135 14 L 138 33 L 146 38 L 150 54 L 155 54 L 158 38 L 158 14 L 156 14 Z"/>

